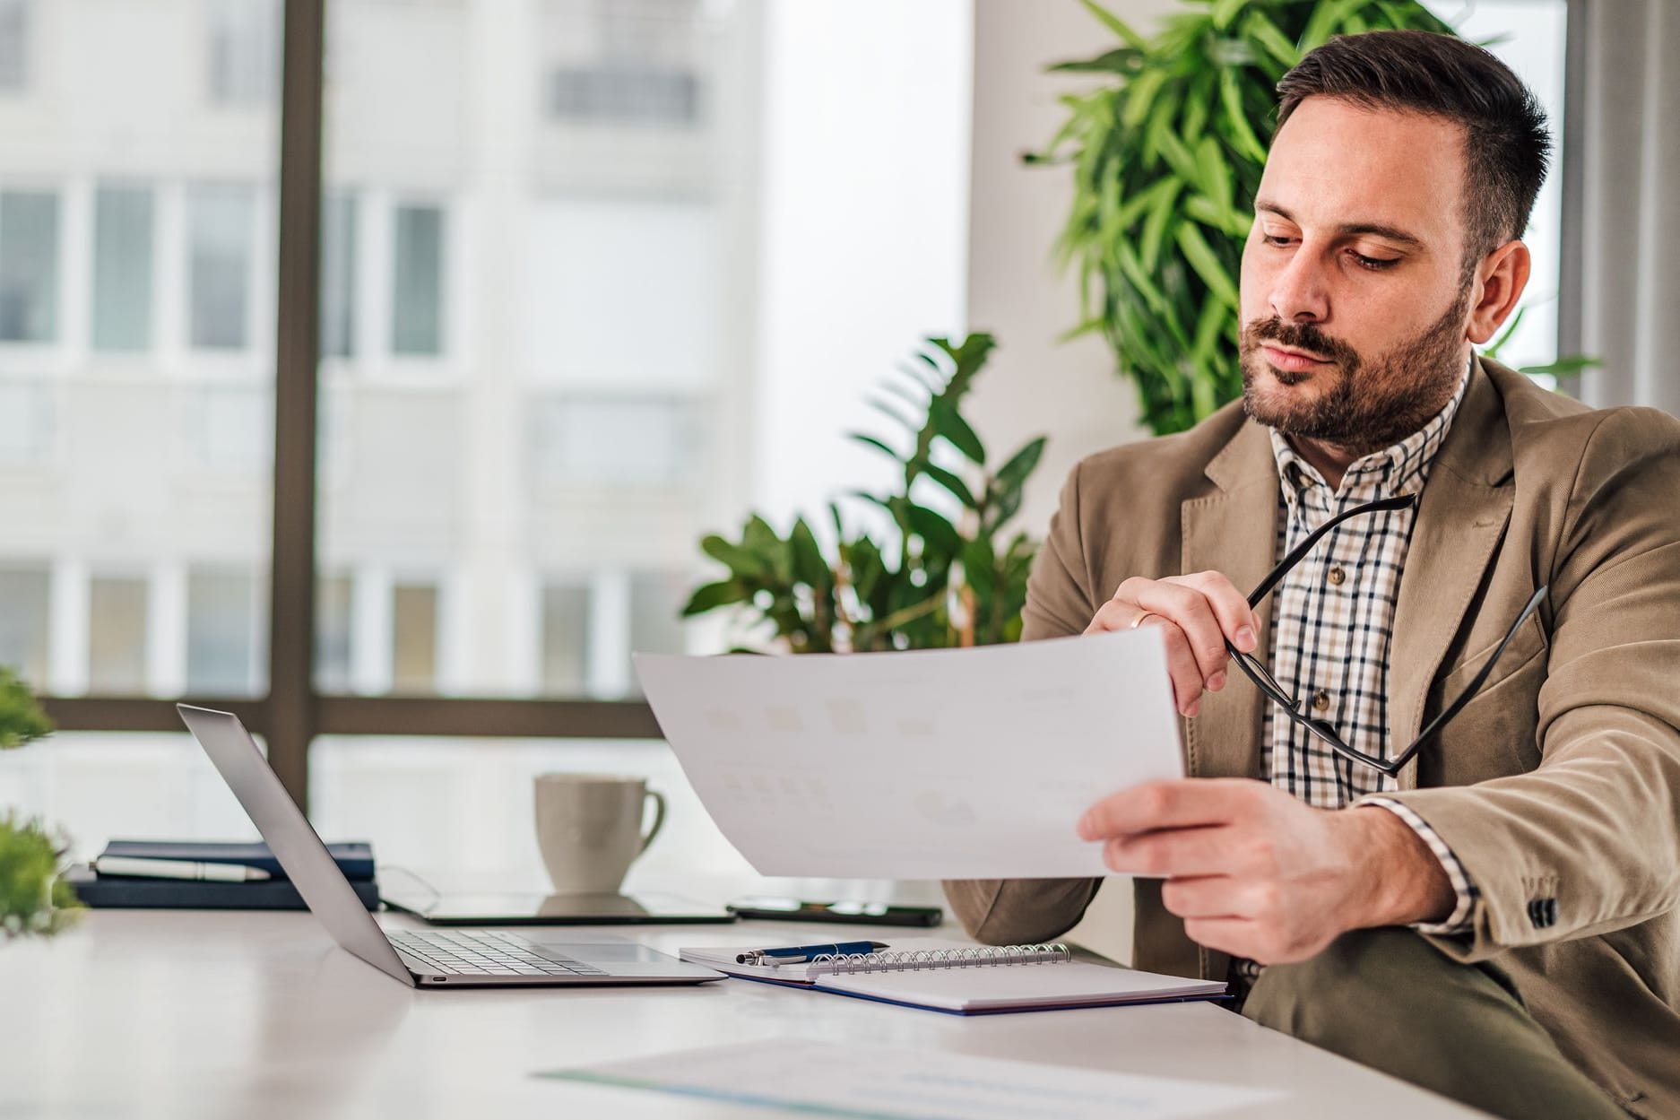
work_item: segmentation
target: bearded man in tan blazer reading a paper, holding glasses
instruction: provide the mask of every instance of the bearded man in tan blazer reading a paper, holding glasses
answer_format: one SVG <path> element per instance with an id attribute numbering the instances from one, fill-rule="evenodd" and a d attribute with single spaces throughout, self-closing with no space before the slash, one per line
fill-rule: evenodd
<path id="1" fill-rule="evenodd" d="M 1161 631 L 1191 775 L 1068 827 L 1142 969 L 1514 1120 L 1680 1117 L 1680 422 L 1475 357 L 1549 155 L 1494 55 L 1349 35 L 1278 94 L 1242 404 L 1080 462 L 1033 570 L 1028 639 Z M 1099 883 L 946 891 L 1042 942 Z"/>

